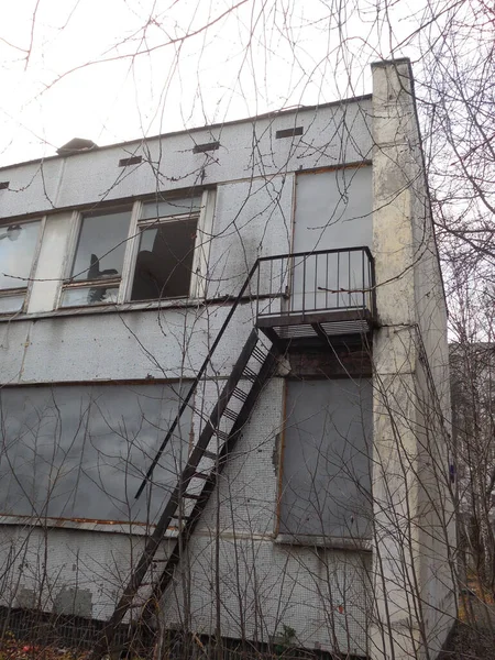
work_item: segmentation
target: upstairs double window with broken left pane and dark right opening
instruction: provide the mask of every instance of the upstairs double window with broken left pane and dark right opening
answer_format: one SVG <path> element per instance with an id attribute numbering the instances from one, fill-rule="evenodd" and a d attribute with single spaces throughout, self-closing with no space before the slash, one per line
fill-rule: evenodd
<path id="1" fill-rule="evenodd" d="M 204 210 L 189 196 L 79 216 L 61 306 L 194 297 Z"/>

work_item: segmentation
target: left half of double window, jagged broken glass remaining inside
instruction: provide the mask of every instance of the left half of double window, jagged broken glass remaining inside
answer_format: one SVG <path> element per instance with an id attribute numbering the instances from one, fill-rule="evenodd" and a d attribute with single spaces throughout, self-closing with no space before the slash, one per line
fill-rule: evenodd
<path id="1" fill-rule="evenodd" d="M 130 221 L 131 207 L 82 216 L 63 307 L 118 301 Z"/>

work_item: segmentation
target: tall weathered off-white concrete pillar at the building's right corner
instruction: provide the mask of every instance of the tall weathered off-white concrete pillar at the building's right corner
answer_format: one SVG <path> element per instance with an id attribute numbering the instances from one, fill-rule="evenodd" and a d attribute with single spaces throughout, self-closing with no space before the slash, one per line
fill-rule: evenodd
<path id="1" fill-rule="evenodd" d="M 447 322 L 408 62 L 373 69 L 372 657 L 435 658 L 455 616 Z"/>

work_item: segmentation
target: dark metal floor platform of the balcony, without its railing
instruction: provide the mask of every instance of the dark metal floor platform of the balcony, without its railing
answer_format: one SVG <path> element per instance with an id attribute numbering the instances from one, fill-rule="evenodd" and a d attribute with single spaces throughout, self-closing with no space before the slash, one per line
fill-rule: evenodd
<path id="1" fill-rule="evenodd" d="M 373 330 L 373 315 L 366 308 L 263 315 L 257 317 L 256 326 L 283 350 L 323 348 L 351 339 L 362 341 Z"/>

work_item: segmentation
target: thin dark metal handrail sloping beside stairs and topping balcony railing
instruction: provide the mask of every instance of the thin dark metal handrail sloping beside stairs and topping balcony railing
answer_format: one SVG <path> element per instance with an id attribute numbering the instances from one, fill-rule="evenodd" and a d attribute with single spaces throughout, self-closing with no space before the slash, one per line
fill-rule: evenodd
<path id="1" fill-rule="evenodd" d="M 227 327 L 230 323 L 231 318 L 233 317 L 237 308 L 239 307 L 239 304 L 243 299 L 245 290 L 248 289 L 248 287 L 250 285 L 250 282 L 253 278 L 254 274 L 258 270 L 260 264 L 264 263 L 264 262 L 267 262 L 267 261 L 271 261 L 271 260 L 272 261 L 275 261 L 275 260 L 285 260 L 285 258 L 288 260 L 288 258 L 297 258 L 297 257 L 301 257 L 301 256 L 302 257 L 310 257 L 310 256 L 316 256 L 316 255 L 319 255 L 319 254 L 336 254 L 336 253 L 342 253 L 342 252 L 360 252 L 360 251 L 364 252 L 366 254 L 366 256 L 369 257 L 369 263 L 370 263 L 370 267 L 371 267 L 371 288 L 372 288 L 371 294 L 372 294 L 372 306 L 373 306 L 372 312 L 374 314 L 374 310 L 375 310 L 374 260 L 373 260 L 373 255 L 372 255 L 372 253 L 370 251 L 370 248 L 367 248 L 366 245 L 363 245 L 361 248 L 336 248 L 336 249 L 332 249 L 332 250 L 314 250 L 311 252 L 292 252 L 292 253 L 287 253 L 287 254 L 277 254 L 277 255 L 271 255 L 271 256 L 261 256 L 261 257 L 258 257 L 254 262 L 251 271 L 248 274 L 248 277 L 245 278 L 244 284 L 242 285 L 242 287 L 241 287 L 238 296 L 235 297 L 235 299 L 234 299 L 234 301 L 233 301 L 233 304 L 232 304 L 232 306 L 231 306 L 231 308 L 229 310 L 229 314 L 226 317 L 226 320 L 223 321 L 223 323 L 222 323 L 222 326 L 221 326 L 221 328 L 220 328 L 220 330 L 219 330 L 219 332 L 218 332 L 218 334 L 217 334 L 213 343 L 211 344 L 211 348 L 208 351 L 208 354 L 205 358 L 204 363 L 201 364 L 201 366 L 200 366 L 200 369 L 199 369 L 199 371 L 198 371 L 195 380 L 193 381 L 191 386 L 189 387 L 189 391 L 187 392 L 186 396 L 184 397 L 184 400 L 183 400 L 183 403 L 180 405 L 180 408 L 179 408 L 179 410 L 178 410 L 178 413 L 177 413 L 174 421 L 172 422 L 170 428 L 168 429 L 168 431 L 167 431 L 167 433 L 166 433 L 166 436 L 165 436 L 162 444 L 160 446 L 158 451 L 157 451 L 155 458 L 153 459 L 152 464 L 147 469 L 146 474 L 145 474 L 142 483 L 141 483 L 141 485 L 140 485 L 136 494 L 134 495 L 135 499 L 138 499 L 141 496 L 142 492 L 144 491 L 144 488 L 146 486 L 146 483 L 150 481 L 150 477 L 152 476 L 153 471 L 155 470 L 156 464 L 158 463 L 158 461 L 160 461 L 160 459 L 161 459 L 161 457 L 162 457 L 162 454 L 163 454 L 163 452 L 165 450 L 165 447 L 168 444 L 169 440 L 172 439 L 172 436 L 173 436 L 175 429 L 177 428 L 177 425 L 180 421 L 180 418 L 182 418 L 183 414 L 185 413 L 185 410 L 186 410 L 186 408 L 187 408 L 187 406 L 189 404 L 189 400 L 190 400 L 193 394 L 196 391 L 196 387 L 198 386 L 198 383 L 200 382 L 200 380 L 201 380 L 202 375 L 205 374 L 206 370 L 208 369 L 208 365 L 211 363 L 211 359 L 213 356 L 213 353 L 215 353 L 218 344 L 220 343 L 220 340 L 222 339 L 222 337 L 223 337 L 223 334 L 224 334 L 224 332 L 227 330 Z M 258 283 L 257 292 L 256 293 L 257 293 L 256 298 L 258 298 L 260 283 Z M 276 294 L 268 294 L 268 297 L 272 297 L 272 296 L 276 297 L 277 295 Z"/>

